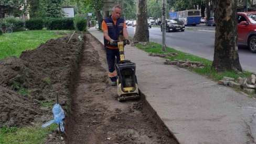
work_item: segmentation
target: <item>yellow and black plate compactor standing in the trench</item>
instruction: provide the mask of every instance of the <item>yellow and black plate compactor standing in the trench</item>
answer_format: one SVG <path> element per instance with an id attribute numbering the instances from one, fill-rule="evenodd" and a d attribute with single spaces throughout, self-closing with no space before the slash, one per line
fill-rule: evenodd
<path id="1" fill-rule="evenodd" d="M 118 100 L 133 100 L 140 99 L 138 93 L 137 78 L 135 75 L 136 64 L 124 59 L 124 45 L 127 40 L 118 42 L 120 61 L 115 64 L 115 69 L 118 73 Z"/>

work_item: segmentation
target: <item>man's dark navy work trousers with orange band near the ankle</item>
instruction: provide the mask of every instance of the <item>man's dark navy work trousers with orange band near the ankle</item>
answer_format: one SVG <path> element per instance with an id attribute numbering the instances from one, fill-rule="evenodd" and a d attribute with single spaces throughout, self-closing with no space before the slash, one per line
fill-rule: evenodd
<path id="1" fill-rule="evenodd" d="M 118 76 L 116 75 L 115 70 L 115 58 L 116 62 L 120 61 L 120 55 L 119 55 L 119 49 L 108 49 L 105 47 L 106 51 L 106 60 L 108 61 L 109 65 L 109 78 L 111 81 L 116 81 L 118 79 Z"/>

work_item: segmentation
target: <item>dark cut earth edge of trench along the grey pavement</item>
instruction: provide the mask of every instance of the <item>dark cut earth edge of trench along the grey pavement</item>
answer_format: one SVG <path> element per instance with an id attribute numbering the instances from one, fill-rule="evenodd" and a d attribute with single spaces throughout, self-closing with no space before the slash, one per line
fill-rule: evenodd
<path id="1" fill-rule="evenodd" d="M 89 32 L 90 33 L 90 32 Z M 91 34 L 91 33 L 90 33 Z M 101 45 L 102 48 L 104 47 L 104 45 L 101 43 L 100 40 L 98 40 L 96 37 L 94 37 L 93 34 L 91 34 L 92 37 L 97 40 Z M 172 131 L 165 125 L 165 123 L 163 122 L 163 120 L 159 117 L 159 115 L 157 115 L 157 112 L 153 109 L 153 107 L 150 105 L 150 103 L 146 100 L 146 95 L 140 90 L 138 89 L 140 96 L 141 96 L 141 100 L 143 102 L 143 111 L 146 111 L 147 114 L 150 115 L 151 119 L 154 120 L 156 123 L 156 127 L 158 129 L 161 129 L 164 131 L 165 135 L 169 138 L 175 139 L 175 143 L 180 143 L 179 140 L 175 137 L 174 133 L 172 133 Z M 174 144 L 175 144 L 174 143 Z"/>

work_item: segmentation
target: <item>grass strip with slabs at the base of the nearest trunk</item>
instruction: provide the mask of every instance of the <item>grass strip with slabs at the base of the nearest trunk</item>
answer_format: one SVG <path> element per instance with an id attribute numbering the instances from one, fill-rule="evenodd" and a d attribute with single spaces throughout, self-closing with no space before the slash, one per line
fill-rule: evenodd
<path id="1" fill-rule="evenodd" d="M 252 73 L 248 71 L 243 71 L 242 74 L 237 74 L 234 71 L 226 71 L 223 73 L 217 73 L 215 69 L 211 69 L 212 61 L 209 61 L 208 59 L 201 58 L 195 55 L 187 54 L 184 52 L 177 51 L 175 49 L 172 49 L 170 47 L 166 47 L 166 52 L 162 51 L 162 45 L 155 43 L 155 42 L 149 42 L 147 44 L 137 44 L 138 49 L 144 50 L 148 53 L 155 53 L 155 54 L 164 54 L 164 53 L 178 53 L 178 56 L 175 57 L 165 57 L 170 60 L 179 59 L 179 60 L 188 60 L 188 61 L 194 61 L 194 62 L 202 62 L 205 67 L 204 68 L 189 68 L 191 71 L 195 71 L 195 73 L 207 76 L 210 79 L 213 80 L 220 80 L 223 78 L 223 76 L 231 77 L 237 79 L 238 77 L 249 77 Z"/>

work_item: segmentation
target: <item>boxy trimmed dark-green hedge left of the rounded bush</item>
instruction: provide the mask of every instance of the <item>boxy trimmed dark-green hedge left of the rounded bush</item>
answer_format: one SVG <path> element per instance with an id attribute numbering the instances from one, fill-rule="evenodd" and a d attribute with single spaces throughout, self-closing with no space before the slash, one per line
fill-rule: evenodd
<path id="1" fill-rule="evenodd" d="M 46 28 L 49 30 L 73 30 L 72 18 L 48 18 L 45 19 Z"/>

